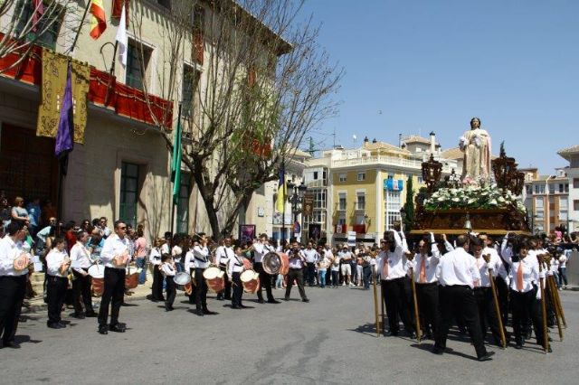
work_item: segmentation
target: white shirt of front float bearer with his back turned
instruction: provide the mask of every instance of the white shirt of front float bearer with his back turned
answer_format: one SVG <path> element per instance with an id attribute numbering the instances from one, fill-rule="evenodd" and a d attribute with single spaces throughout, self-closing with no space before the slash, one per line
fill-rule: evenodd
<path id="1" fill-rule="evenodd" d="M 480 281 L 480 273 L 474 258 L 464 249 L 456 248 L 444 254 L 437 270 L 442 286 L 470 286 Z"/>

